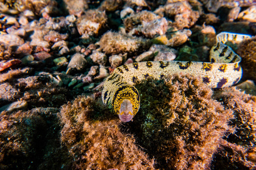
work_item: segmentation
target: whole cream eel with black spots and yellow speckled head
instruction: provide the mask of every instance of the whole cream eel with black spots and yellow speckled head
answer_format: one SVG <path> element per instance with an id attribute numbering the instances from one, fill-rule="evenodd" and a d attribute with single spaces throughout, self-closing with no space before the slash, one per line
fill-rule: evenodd
<path id="1" fill-rule="evenodd" d="M 139 92 L 133 86 L 137 82 L 151 76 L 160 79 L 163 76 L 184 73 L 192 74 L 209 85 L 210 88 L 223 88 L 236 84 L 242 76 L 239 65 L 241 58 L 233 50 L 225 45 L 226 41 L 240 42 L 250 38 L 249 35 L 221 32 L 216 36 L 217 43 L 210 49 L 210 62 L 186 62 L 186 61 L 147 61 L 135 62 L 117 67 L 105 80 L 102 90 L 102 101 L 119 118 L 130 121 L 140 107 Z M 122 118 L 121 104 L 132 105 L 127 117 Z M 130 107 L 131 108 L 131 107 Z"/>

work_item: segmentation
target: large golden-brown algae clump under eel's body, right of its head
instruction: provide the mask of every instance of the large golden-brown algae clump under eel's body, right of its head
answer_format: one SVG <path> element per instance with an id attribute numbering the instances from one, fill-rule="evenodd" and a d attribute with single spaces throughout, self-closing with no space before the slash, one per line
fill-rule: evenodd
<path id="1" fill-rule="evenodd" d="M 137 89 L 141 109 L 128 125 L 154 156 L 156 168 L 209 168 L 232 112 L 211 98 L 209 87 L 189 75 L 147 80 Z"/>

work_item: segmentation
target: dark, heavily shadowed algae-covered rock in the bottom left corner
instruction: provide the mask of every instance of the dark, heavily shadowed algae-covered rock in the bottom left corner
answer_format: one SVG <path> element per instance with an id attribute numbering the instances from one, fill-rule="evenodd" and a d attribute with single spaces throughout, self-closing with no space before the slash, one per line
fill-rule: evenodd
<path id="1" fill-rule="evenodd" d="M 60 169 L 71 160 L 59 142 L 57 108 L 0 114 L 0 169 Z"/>

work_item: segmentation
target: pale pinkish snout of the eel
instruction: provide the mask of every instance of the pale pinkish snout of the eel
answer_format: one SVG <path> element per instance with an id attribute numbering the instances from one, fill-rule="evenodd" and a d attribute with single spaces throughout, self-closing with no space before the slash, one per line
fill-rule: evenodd
<path id="1" fill-rule="evenodd" d="M 123 122 L 129 122 L 133 119 L 133 104 L 131 104 L 130 100 L 123 100 L 120 105 L 118 116 Z"/>

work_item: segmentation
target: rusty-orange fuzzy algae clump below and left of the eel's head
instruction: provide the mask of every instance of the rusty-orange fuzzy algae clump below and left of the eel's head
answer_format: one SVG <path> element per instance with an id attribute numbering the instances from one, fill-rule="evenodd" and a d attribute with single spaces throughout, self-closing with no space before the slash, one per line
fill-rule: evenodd
<path id="1" fill-rule="evenodd" d="M 61 142 L 73 156 L 73 168 L 154 169 L 154 160 L 135 145 L 132 135 L 121 133 L 121 122 L 93 96 L 63 105 L 59 116 L 64 124 Z"/>

